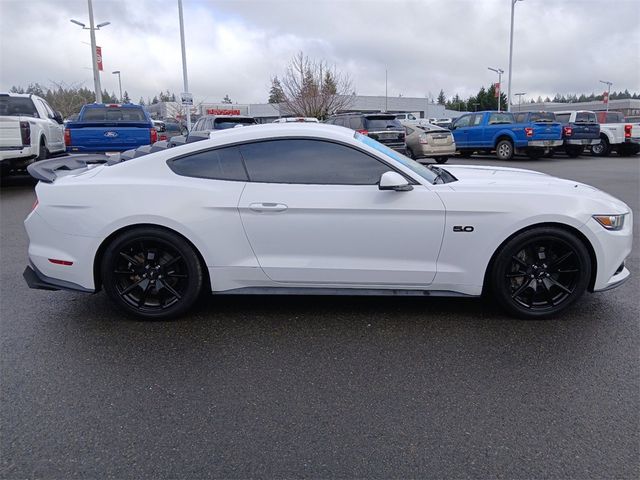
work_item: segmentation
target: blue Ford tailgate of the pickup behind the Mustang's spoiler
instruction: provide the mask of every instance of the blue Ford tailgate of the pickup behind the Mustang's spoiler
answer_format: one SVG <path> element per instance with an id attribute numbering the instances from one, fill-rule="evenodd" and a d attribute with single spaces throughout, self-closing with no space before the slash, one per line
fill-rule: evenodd
<path id="1" fill-rule="evenodd" d="M 74 124 L 70 126 L 71 145 L 68 150 L 119 152 L 151 143 L 147 124 L 100 125 Z"/>

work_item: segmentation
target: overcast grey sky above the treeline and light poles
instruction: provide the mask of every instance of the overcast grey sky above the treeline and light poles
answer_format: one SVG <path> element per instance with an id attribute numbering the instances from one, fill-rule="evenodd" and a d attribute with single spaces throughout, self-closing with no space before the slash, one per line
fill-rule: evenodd
<path id="1" fill-rule="evenodd" d="M 325 59 L 361 95 L 467 97 L 507 71 L 511 0 L 183 0 L 196 101 L 263 102 L 297 51 Z M 177 0 L 93 0 L 102 87 L 134 101 L 182 88 Z M 0 90 L 39 82 L 93 88 L 86 0 L 0 0 Z M 640 0 L 516 4 L 513 92 L 640 92 Z M 506 90 L 506 74 L 503 77 Z"/>

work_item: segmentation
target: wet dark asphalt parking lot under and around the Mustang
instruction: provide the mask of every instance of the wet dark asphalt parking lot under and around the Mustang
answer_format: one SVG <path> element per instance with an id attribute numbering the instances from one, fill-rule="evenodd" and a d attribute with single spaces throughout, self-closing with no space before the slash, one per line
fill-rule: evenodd
<path id="1" fill-rule="evenodd" d="M 640 157 L 499 163 L 640 212 Z M 553 321 L 477 300 L 216 297 L 124 318 L 30 290 L 25 178 L 0 189 L 1 477 L 640 476 L 640 259 Z"/>

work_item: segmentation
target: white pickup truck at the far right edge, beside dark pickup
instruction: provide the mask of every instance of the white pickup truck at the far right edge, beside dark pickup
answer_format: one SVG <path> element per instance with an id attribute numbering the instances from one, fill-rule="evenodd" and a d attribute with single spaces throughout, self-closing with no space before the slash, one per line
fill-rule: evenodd
<path id="1" fill-rule="evenodd" d="M 596 112 L 600 122 L 600 143 L 592 145 L 591 153 L 608 156 L 612 150 L 618 155 L 640 152 L 640 123 L 626 122 L 620 112 Z"/>

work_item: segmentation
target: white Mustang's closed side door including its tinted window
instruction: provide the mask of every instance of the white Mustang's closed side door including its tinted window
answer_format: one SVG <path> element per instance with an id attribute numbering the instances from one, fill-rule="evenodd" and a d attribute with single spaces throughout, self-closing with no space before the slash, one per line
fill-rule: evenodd
<path id="1" fill-rule="evenodd" d="M 242 223 L 276 282 L 425 286 L 436 273 L 444 208 L 430 189 L 381 191 L 393 170 L 354 147 L 282 139 L 240 147 L 249 182 Z"/>

